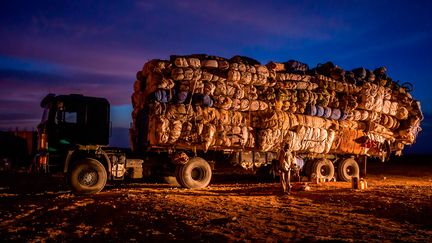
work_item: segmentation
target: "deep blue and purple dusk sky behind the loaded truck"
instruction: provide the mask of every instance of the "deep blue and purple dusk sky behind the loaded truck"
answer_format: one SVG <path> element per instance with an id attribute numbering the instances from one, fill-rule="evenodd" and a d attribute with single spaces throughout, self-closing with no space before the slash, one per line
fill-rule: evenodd
<path id="1" fill-rule="evenodd" d="M 151 59 L 207 53 L 386 66 L 411 82 L 431 136 L 432 1 L 1 1 L 0 130 L 34 129 L 47 93 L 105 97 L 126 134 L 135 74 Z M 127 135 L 114 134 L 123 145 Z M 124 141 L 123 141 L 124 140 Z M 417 145 L 416 145 L 417 146 Z M 424 145 L 418 146 L 423 148 Z M 424 147 L 427 149 L 427 147 Z"/>

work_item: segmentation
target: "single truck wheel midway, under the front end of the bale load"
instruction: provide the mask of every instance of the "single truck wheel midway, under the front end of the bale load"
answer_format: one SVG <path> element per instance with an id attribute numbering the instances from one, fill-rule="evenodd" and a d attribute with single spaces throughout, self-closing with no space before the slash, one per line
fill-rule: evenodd
<path id="1" fill-rule="evenodd" d="M 212 170 L 207 161 L 195 157 L 184 165 L 177 167 L 177 181 L 183 187 L 200 189 L 206 187 L 211 180 Z"/>

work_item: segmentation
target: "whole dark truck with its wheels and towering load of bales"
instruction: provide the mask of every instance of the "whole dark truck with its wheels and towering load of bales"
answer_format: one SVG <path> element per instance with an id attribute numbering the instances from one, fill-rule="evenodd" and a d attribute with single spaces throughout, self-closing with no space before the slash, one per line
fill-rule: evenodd
<path id="1" fill-rule="evenodd" d="M 107 99 L 48 94 L 35 168 L 64 173 L 77 194 L 149 175 L 199 189 L 220 165 L 273 168 L 288 146 L 297 174 L 350 181 L 368 157 L 385 161 L 413 144 L 423 119 L 411 86 L 384 68 L 195 54 L 151 60 L 136 77 L 130 148 L 109 146 Z"/>

